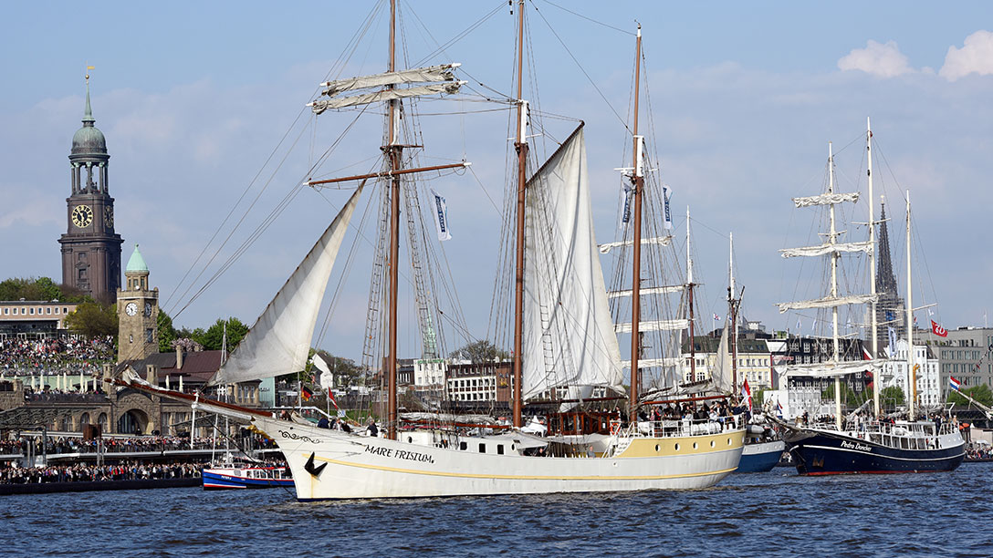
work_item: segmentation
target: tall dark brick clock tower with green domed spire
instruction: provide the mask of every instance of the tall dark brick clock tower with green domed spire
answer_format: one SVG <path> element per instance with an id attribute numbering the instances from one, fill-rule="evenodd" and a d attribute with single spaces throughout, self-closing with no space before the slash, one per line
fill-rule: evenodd
<path id="1" fill-rule="evenodd" d="M 114 232 L 114 199 L 107 189 L 106 140 L 93 123 L 86 75 L 86 111 L 72 136 L 69 156 L 72 194 L 66 199 L 69 229 L 59 238 L 63 284 L 103 302 L 113 302 L 121 284 L 120 234 Z"/>

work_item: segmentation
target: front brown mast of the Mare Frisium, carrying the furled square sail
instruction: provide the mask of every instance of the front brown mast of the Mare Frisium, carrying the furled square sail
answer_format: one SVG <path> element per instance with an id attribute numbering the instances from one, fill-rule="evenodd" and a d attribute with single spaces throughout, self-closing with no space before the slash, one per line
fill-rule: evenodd
<path id="1" fill-rule="evenodd" d="M 389 67 L 387 71 L 396 71 L 396 0 L 389 2 Z M 389 85 L 392 89 L 394 85 Z M 396 172 L 400 169 L 400 150 L 402 147 L 397 143 L 397 126 L 399 125 L 399 115 L 397 114 L 399 101 L 396 99 L 389 101 L 388 112 L 388 141 L 386 142 L 386 152 L 389 155 L 390 171 Z M 393 175 L 389 193 L 389 310 L 386 321 L 389 324 L 387 334 L 386 352 L 389 355 L 386 359 L 386 374 L 389 382 L 387 388 L 387 411 L 386 411 L 386 436 L 390 440 L 396 440 L 396 293 L 397 293 L 397 272 L 399 268 L 399 244 L 400 244 L 400 177 Z"/>

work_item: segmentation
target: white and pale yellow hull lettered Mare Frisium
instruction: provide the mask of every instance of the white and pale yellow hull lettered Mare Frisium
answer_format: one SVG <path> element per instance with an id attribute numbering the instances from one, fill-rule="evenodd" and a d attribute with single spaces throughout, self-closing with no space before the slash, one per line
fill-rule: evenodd
<path id="1" fill-rule="evenodd" d="M 530 457 L 505 438 L 443 448 L 265 417 L 253 423 L 283 451 L 300 500 L 707 488 L 738 467 L 744 443 L 744 431 L 728 430 L 636 437 L 611 458 Z"/>

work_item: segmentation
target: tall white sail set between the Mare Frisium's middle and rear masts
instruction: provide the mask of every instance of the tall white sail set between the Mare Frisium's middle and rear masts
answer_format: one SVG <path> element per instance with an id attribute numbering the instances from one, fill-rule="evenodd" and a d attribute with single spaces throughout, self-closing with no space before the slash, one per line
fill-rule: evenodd
<path id="1" fill-rule="evenodd" d="M 526 204 L 523 398 L 563 385 L 619 387 L 582 126 L 531 178 Z"/>

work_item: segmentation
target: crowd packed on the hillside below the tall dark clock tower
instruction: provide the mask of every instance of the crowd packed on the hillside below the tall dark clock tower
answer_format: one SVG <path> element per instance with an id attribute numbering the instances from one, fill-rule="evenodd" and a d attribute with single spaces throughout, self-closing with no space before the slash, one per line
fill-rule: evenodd
<path id="1" fill-rule="evenodd" d="M 113 359 L 111 338 L 0 339 L 0 370 L 7 375 L 94 374 Z"/>

